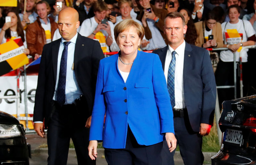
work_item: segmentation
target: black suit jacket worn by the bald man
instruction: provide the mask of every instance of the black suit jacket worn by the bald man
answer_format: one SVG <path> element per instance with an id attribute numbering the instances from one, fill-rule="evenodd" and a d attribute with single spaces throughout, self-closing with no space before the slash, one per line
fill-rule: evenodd
<path id="1" fill-rule="evenodd" d="M 47 122 L 52 113 L 60 42 L 61 39 L 58 39 L 44 45 L 39 67 L 33 117 L 34 121 L 45 120 L 45 128 L 47 128 Z M 87 117 L 92 114 L 98 67 L 100 59 L 103 58 L 104 54 L 100 43 L 78 33 L 74 54 L 74 71 L 77 83 L 86 99 L 83 108 L 83 111 L 86 111 L 84 114 L 87 115 L 83 118 L 85 122 Z"/>

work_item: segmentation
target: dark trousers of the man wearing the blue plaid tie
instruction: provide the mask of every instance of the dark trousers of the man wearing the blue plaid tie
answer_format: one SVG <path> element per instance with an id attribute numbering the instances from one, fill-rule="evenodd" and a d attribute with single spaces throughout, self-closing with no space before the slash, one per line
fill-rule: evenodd
<path id="1" fill-rule="evenodd" d="M 175 138 L 177 139 L 177 145 L 180 147 L 182 160 L 185 165 L 202 165 L 204 162 L 202 153 L 203 137 L 192 130 L 188 114 L 187 112 L 184 113 L 184 117 L 173 118 Z M 163 165 L 174 165 L 175 150 L 170 153 L 167 142 L 164 140 L 161 152 Z"/>

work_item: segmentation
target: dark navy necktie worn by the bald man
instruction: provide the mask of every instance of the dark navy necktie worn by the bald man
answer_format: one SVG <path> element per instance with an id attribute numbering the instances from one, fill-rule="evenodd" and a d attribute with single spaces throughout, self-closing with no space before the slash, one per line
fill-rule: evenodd
<path id="1" fill-rule="evenodd" d="M 64 50 L 62 51 L 60 60 L 60 74 L 57 88 L 57 102 L 62 106 L 66 101 L 66 76 L 67 76 L 67 59 L 68 59 L 68 44 L 64 42 Z"/>

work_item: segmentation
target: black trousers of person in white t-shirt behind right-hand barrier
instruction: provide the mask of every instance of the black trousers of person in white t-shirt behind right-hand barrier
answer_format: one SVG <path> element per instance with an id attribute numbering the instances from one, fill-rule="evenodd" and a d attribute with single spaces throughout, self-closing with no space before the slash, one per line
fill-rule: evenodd
<path id="1" fill-rule="evenodd" d="M 240 79 L 238 76 L 238 69 L 236 70 L 236 96 L 237 98 L 240 97 Z M 248 63 L 242 63 L 242 73 L 243 73 L 243 95 L 246 96 L 248 92 Z M 234 62 L 223 62 L 219 61 L 217 65 L 217 69 L 215 72 L 215 79 L 217 86 L 223 85 L 234 85 Z M 234 88 L 228 89 L 218 89 L 218 97 L 219 97 L 219 104 L 221 104 L 225 100 L 231 100 L 235 98 Z"/>

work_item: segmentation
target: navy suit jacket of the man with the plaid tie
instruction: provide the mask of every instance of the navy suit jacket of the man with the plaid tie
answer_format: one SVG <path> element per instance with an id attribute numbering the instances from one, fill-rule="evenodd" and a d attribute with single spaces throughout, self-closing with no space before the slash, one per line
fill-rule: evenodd
<path id="1" fill-rule="evenodd" d="M 159 55 L 163 69 L 168 46 L 153 51 Z M 186 43 L 183 68 L 184 99 L 189 122 L 195 132 L 200 123 L 213 125 L 216 83 L 209 52 Z"/>

